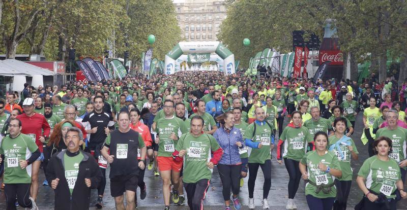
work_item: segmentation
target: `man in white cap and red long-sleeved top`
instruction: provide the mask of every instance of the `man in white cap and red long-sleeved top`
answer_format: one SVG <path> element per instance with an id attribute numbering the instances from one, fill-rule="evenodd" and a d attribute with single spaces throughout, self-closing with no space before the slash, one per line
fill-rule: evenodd
<path id="1" fill-rule="evenodd" d="M 21 121 L 21 133 L 30 136 L 42 153 L 42 144 L 45 143 L 45 139 L 49 137 L 51 128 L 43 115 L 34 112 L 33 98 L 25 98 L 22 103 L 22 107 L 24 109 L 24 114 L 17 116 L 17 119 Z M 41 157 L 29 164 L 33 164 L 31 176 L 31 197 L 36 200 L 38 193 L 38 171 L 40 170 Z"/>

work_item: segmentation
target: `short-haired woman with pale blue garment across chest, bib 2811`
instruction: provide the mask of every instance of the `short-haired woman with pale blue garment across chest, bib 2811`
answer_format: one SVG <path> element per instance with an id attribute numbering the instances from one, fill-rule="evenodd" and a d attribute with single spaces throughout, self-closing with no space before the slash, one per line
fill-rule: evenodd
<path id="1" fill-rule="evenodd" d="M 334 209 L 345 210 L 347 197 L 351 191 L 352 168 L 351 157 L 358 160 L 358 149 L 352 138 L 345 135 L 346 121 L 344 117 L 336 118 L 334 121 L 335 135 L 329 137 L 329 151 L 332 151 L 339 160 L 342 177 L 335 180 L 337 189 Z"/>

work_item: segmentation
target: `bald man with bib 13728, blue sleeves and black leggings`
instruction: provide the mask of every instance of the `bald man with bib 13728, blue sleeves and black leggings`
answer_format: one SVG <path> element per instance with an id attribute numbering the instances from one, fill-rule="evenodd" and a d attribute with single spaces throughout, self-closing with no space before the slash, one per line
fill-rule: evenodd
<path id="1" fill-rule="evenodd" d="M 249 155 L 249 208 L 254 208 L 253 190 L 258 167 L 264 175 L 263 208 L 269 208 L 267 198 L 271 187 L 271 150 L 274 148 L 274 127 L 266 121 L 266 112 L 258 107 L 254 110 L 255 121 L 247 127 L 244 135 L 246 147 L 252 148 Z M 254 176 L 254 177 L 250 177 Z"/>

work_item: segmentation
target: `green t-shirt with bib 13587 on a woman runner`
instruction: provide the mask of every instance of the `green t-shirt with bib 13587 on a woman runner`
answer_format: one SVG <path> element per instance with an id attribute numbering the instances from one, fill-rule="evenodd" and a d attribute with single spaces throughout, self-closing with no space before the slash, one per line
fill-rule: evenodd
<path id="1" fill-rule="evenodd" d="M 283 158 L 300 161 L 307 149 L 307 142 L 312 142 L 313 136 L 305 126 L 299 128 L 285 127 L 280 136 L 284 142 Z"/>

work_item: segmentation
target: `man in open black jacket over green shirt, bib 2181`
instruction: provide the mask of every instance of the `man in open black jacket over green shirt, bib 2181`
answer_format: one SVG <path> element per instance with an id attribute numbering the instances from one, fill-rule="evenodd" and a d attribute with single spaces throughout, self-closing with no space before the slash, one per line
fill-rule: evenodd
<path id="1" fill-rule="evenodd" d="M 102 173 L 98 163 L 86 152 L 82 131 L 70 127 L 66 133 L 67 150 L 54 154 L 48 162 L 46 177 L 55 190 L 55 209 L 89 209 L 91 189 L 98 187 Z"/>

